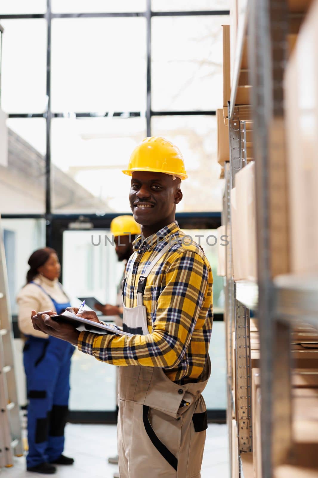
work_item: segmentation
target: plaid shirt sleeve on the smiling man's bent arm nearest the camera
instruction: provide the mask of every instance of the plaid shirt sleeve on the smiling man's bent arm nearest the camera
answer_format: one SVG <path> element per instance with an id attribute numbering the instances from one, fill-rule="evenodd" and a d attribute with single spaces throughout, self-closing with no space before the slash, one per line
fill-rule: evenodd
<path id="1" fill-rule="evenodd" d="M 113 365 L 174 368 L 185 354 L 194 329 L 201 328 L 205 319 L 209 271 L 192 250 L 175 252 L 170 263 L 161 283 L 151 334 L 128 337 L 81 332 L 79 350 Z"/>

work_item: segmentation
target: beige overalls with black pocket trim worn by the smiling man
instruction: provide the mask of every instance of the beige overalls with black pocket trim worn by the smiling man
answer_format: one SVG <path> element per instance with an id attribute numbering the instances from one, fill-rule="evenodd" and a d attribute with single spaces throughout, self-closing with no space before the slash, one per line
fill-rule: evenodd
<path id="1" fill-rule="evenodd" d="M 139 279 L 137 307 L 127 308 L 123 304 L 124 330 L 149 333 L 147 311 L 142 304 L 143 290 L 149 272 L 170 246 L 158 253 Z M 139 287 L 140 280 L 144 280 L 143 287 Z M 119 369 L 120 478 L 200 478 L 207 427 L 201 392 L 210 376 L 210 358 L 201 381 L 186 385 L 172 382 L 158 367 Z"/>

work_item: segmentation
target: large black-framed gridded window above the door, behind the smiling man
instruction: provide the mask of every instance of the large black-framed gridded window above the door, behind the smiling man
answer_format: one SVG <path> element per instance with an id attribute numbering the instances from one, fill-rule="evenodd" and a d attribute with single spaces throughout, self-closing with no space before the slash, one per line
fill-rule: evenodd
<path id="1" fill-rule="evenodd" d="M 2 213 L 129 211 L 121 168 L 147 135 L 184 154 L 179 211 L 220 211 L 215 110 L 229 2 L 52 0 L 52 11 L 46 3 L 0 4 L 10 142 Z"/>

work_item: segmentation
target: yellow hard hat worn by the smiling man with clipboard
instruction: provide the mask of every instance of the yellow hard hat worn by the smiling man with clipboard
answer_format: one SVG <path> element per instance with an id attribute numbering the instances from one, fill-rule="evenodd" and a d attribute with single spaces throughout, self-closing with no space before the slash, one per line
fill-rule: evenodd
<path id="1" fill-rule="evenodd" d="M 134 171 L 165 173 L 180 179 L 188 177 L 180 149 L 158 136 L 145 138 L 134 149 L 123 173 L 131 176 Z"/>

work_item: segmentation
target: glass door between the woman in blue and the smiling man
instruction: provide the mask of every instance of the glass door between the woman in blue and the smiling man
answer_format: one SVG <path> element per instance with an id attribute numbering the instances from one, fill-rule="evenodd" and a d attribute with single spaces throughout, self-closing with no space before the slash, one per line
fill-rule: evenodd
<path id="1" fill-rule="evenodd" d="M 123 263 L 117 261 L 109 230 L 63 232 L 63 287 L 74 306 L 78 297 L 116 304 Z M 79 352 L 72 358 L 70 417 L 81 422 L 116 418 L 116 368 Z"/>

